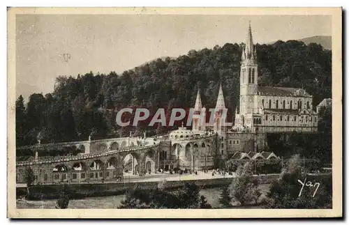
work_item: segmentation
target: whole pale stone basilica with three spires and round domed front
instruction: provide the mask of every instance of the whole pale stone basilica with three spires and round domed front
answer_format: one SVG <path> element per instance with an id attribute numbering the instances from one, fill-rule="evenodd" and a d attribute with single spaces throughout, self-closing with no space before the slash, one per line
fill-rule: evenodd
<path id="1" fill-rule="evenodd" d="M 258 86 L 257 53 L 251 24 L 242 51 L 239 107 L 231 125 L 225 123 L 223 112 L 228 109 L 224 99 L 220 85 L 214 121 L 207 123 L 207 109 L 202 107 L 198 91 L 192 129 L 182 125 L 168 135 L 173 145 L 169 162 L 178 162 L 180 168 L 200 169 L 237 155 L 272 155 L 267 152 L 268 133 L 317 131 L 318 114 L 313 110 L 313 96 L 303 88 Z"/>

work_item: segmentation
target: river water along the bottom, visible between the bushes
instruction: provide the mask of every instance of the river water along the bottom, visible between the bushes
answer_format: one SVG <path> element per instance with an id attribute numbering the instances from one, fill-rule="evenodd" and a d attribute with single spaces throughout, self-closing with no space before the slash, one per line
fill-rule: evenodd
<path id="1" fill-rule="evenodd" d="M 269 190 L 269 185 L 260 185 L 260 189 L 263 195 Z M 208 189 L 200 190 L 200 194 L 205 196 L 207 202 L 211 204 L 212 208 L 220 208 L 219 197 L 221 195 L 221 187 L 212 187 Z M 98 196 L 89 197 L 84 199 L 71 199 L 69 201 L 68 208 L 93 208 L 93 209 L 110 209 L 117 208 L 124 195 L 117 196 Z M 55 208 L 56 200 L 44 200 L 44 201 L 17 201 L 17 208 Z"/>

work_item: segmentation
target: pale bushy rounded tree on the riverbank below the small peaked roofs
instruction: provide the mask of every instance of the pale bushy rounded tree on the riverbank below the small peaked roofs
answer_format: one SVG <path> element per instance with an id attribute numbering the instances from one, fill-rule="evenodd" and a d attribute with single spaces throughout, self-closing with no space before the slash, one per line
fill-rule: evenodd
<path id="1" fill-rule="evenodd" d="M 232 180 L 228 189 L 232 200 L 238 201 L 241 205 L 251 203 L 258 189 L 258 183 L 253 180 L 252 164 L 246 162 L 244 166 L 237 169 L 237 177 Z"/>

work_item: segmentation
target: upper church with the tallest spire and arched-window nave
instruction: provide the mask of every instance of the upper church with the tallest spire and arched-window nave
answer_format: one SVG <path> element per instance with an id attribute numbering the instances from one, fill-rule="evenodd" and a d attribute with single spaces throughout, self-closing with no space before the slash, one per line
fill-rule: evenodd
<path id="1" fill-rule="evenodd" d="M 239 110 L 233 130 L 315 132 L 317 127 L 313 96 L 304 89 L 258 86 L 257 54 L 250 25 L 242 51 Z"/>

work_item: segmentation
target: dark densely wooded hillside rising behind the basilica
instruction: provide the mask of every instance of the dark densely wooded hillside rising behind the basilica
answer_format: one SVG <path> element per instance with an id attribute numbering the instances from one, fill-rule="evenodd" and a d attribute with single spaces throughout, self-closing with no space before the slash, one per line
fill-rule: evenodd
<path id="1" fill-rule="evenodd" d="M 303 87 L 314 96 L 314 106 L 331 97 L 331 51 L 295 40 L 256 47 L 261 86 Z M 177 59 L 157 59 L 122 74 L 61 75 L 53 93 L 32 94 L 27 107 L 22 96 L 17 99 L 17 146 L 37 143 L 37 139 L 41 143 L 87 140 L 90 134 L 94 139 L 119 137 L 131 130 L 137 134 L 144 130 L 151 130 L 149 134 L 165 132 L 171 127 L 149 129 L 142 123 L 121 129 L 114 123 L 116 111 L 147 107 L 152 114 L 158 107 L 167 111 L 193 107 L 198 88 L 205 107 L 214 107 L 219 82 L 232 121 L 239 97 L 241 54 L 242 45 L 227 43 L 191 50 Z"/>

